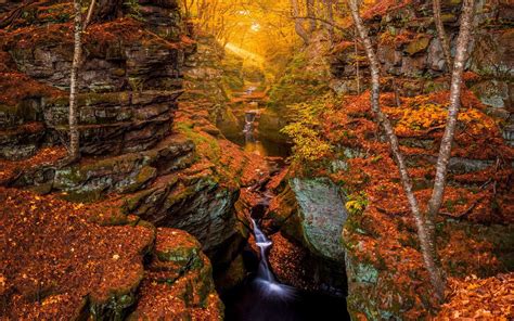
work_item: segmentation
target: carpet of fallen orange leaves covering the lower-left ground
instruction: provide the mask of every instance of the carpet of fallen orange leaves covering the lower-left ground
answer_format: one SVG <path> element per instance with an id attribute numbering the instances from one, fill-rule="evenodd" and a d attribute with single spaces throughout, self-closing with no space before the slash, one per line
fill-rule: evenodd
<path id="1" fill-rule="evenodd" d="M 143 277 L 149 228 L 100 227 L 81 204 L 0 188 L 0 318 L 56 320 L 78 317 L 82 300 L 106 304 L 129 293 Z M 39 300 L 39 303 L 38 303 Z"/>

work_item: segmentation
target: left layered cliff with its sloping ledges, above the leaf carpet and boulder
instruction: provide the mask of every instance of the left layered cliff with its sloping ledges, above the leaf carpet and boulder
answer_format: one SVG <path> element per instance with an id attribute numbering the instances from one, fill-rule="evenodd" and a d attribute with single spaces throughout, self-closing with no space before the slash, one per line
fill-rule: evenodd
<path id="1" fill-rule="evenodd" d="M 77 97 L 82 158 L 64 167 L 53 156 L 46 162 L 44 153 L 55 155 L 52 149 L 68 137 L 72 2 L 29 4 L 0 30 L 0 157 L 16 160 L 5 162 L 14 170 L 2 184 L 80 203 L 125 200 L 116 205 L 119 217 L 136 214 L 184 229 L 210 257 L 226 260 L 219 252 L 242 240 L 233 209 L 239 187 L 220 183 L 215 165 L 198 164 L 198 142 L 174 132 L 185 56 L 196 43 L 183 34 L 177 1 L 123 2 L 100 0 L 83 34 Z M 187 79 L 207 90 L 201 84 L 219 80 L 222 50 L 209 39 L 200 51 Z M 207 92 L 213 97 L 224 100 L 220 88 Z M 197 107 L 208 114 L 214 106 Z"/>

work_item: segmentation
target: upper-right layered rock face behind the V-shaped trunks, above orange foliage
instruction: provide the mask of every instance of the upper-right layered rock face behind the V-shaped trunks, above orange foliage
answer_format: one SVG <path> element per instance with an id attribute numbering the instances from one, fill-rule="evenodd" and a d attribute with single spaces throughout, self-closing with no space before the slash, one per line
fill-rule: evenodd
<path id="1" fill-rule="evenodd" d="M 459 34 L 461 1 L 442 1 L 442 20 L 454 52 Z M 514 118 L 514 5 L 512 1 L 481 1 L 476 4 L 474 37 L 470 44 L 465 85 L 502 119 L 505 140 L 512 145 Z M 398 87 L 404 97 L 449 89 L 448 66 L 433 23 L 432 1 L 403 1 L 393 8 L 380 3 L 363 13 L 377 46 L 377 56 L 386 72 L 384 90 Z M 357 92 L 356 48 L 347 38 L 332 55 L 332 88 L 339 93 Z M 358 56 L 365 54 L 361 47 Z M 370 70 L 360 63 L 360 92 Z M 393 85 L 391 79 L 396 84 Z"/>

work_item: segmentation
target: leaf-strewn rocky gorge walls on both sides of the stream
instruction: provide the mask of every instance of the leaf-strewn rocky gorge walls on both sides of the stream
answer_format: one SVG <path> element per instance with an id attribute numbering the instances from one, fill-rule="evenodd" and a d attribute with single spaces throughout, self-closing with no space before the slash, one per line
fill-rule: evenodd
<path id="1" fill-rule="evenodd" d="M 72 2 L 0 2 L 15 16 L 0 29 L 0 319 L 222 320 L 220 297 L 259 257 L 253 219 L 273 243 L 278 282 L 334 299 L 344 318 L 445 318 L 421 291 L 428 278 L 351 24 L 334 43 L 314 33 L 271 81 L 245 76 L 245 60 L 184 21 L 178 1 L 136 2 L 100 7 L 83 33 L 81 158 L 70 164 Z M 429 1 L 384 2 L 363 16 L 385 74 L 381 101 L 424 200 L 449 79 Z M 452 43 L 460 3 L 444 1 Z M 513 10 L 477 10 L 437 220 L 448 305 L 465 275 L 512 279 L 514 67 L 502 43 Z M 306 102 L 318 106 L 316 150 L 330 146 L 316 162 L 284 131 L 305 126 L 295 105 Z M 246 149 L 248 112 L 280 155 Z"/>

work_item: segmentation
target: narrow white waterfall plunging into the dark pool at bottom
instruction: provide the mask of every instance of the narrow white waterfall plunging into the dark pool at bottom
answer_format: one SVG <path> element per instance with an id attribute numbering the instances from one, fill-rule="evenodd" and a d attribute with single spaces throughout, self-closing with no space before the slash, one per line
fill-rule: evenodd
<path id="1" fill-rule="evenodd" d="M 287 299 L 294 296 L 295 290 L 292 286 L 280 284 L 277 282 L 273 273 L 271 272 L 268 264 L 268 251 L 273 244 L 265 233 L 259 229 L 255 219 L 252 219 L 254 226 L 255 244 L 260 251 L 259 268 L 257 270 L 257 278 L 254 282 L 258 285 L 258 288 L 269 296 L 277 296 L 282 299 Z"/>

